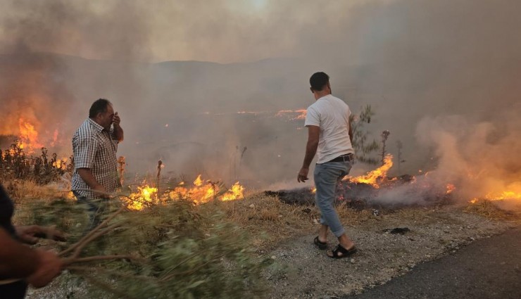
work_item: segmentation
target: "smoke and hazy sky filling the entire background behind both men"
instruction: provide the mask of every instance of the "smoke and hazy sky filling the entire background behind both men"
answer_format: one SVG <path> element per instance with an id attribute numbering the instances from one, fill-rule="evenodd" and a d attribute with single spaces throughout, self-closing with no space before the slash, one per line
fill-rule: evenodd
<path id="1" fill-rule="evenodd" d="M 521 174 L 513 160 L 521 147 L 520 1 L 0 0 L 0 5 L 5 54 L 0 116 L 7 119 L 13 113 L 18 114 L 11 118 L 20 117 L 20 108 L 42 112 L 42 106 L 63 106 L 72 116 L 33 118 L 51 125 L 60 120 L 68 136 L 90 103 L 107 97 L 126 125 L 122 154 L 147 144 L 139 148 L 142 155 L 151 160 L 168 155 L 182 173 L 197 161 L 199 170 L 218 168 L 222 153 L 236 157 L 237 148 L 247 146 L 242 175 L 289 181 L 303 158 L 306 132 L 296 129 L 302 123 L 281 129 L 268 120 L 244 125 L 237 117 L 194 115 L 306 108 L 313 103 L 308 78 L 323 70 L 331 75 L 333 94 L 354 113 L 372 106 L 374 121 L 367 129 L 377 141 L 382 130 L 391 132 L 390 153 L 396 156 L 396 142 L 403 142 L 406 162 L 400 172 L 392 170 L 395 175 L 438 167 L 464 177 L 465 169 L 487 182 L 508 177 L 502 184 L 513 186 Z M 34 52 L 68 56 L 34 63 Z M 31 84 L 20 83 L 31 76 L 36 78 Z M 34 94 L 41 95 L 38 101 Z M 456 167 L 455 160 L 465 167 Z M 237 167 L 226 164 L 228 174 Z M 353 172 L 367 168 L 359 164 Z"/>

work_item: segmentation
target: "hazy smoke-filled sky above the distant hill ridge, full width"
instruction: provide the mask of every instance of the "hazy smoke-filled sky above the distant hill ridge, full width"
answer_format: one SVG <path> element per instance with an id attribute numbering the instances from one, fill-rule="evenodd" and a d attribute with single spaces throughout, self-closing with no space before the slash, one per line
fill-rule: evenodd
<path id="1" fill-rule="evenodd" d="M 520 46 L 514 0 L 0 2 L 4 52 L 30 46 L 93 59 L 218 63 L 322 53 L 376 63 L 513 57 Z"/>

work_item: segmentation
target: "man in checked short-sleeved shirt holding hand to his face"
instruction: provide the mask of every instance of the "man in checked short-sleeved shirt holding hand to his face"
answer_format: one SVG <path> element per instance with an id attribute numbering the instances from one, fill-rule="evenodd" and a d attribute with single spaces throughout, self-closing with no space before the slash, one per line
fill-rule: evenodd
<path id="1" fill-rule="evenodd" d="M 120 117 L 104 98 L 92 103 L 89 117 L 73 135 L 75 169 L 72 189 L 79 203 L 89 206 L 91 229 L 99 224 L 100 201 L 118 187 L 116 151 L 123 141 Z M 112 127 L 113 125 L 113 127 Z"/>

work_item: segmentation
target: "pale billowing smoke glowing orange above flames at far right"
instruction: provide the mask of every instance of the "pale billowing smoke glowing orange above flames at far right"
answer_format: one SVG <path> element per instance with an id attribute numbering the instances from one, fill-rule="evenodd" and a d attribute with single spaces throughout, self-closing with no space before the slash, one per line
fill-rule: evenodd
<path id="1" fill-rule="evenodd" d="M 520 108 L 517 103 L 509 111 L 498 112 L 491 117 L 495 122 L 463 115 L 423 118 L 417 139 L 423 149 L 433 149 L 434 170 L 412 184 L 380 190 L 373 201 L 428 204 L 433 196 L 442 198 L 449 184 L 456 186 L 453 198 L 463 201 L 516 198 L 521 193 L 521 162 L 515 158 L 521 151 Z"/>

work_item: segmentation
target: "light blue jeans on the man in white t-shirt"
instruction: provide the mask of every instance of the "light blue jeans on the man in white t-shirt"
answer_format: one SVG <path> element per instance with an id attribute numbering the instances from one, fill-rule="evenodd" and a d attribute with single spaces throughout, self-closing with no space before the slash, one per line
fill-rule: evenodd
<path id="1" fill-rule="evenodd" d="M 334 209 L 337 186 L 340 180 L 349 174 L 353 167 L 353 160 L 350 162 L 326 162 L 317 164 L 313 177 L 315 179 L 315 203 L 320 208 L 320 224 L 325 224 L 331 229 L 337 238 L 345 234 L 344 227 L 340 222 L 337 210 Z"/>

